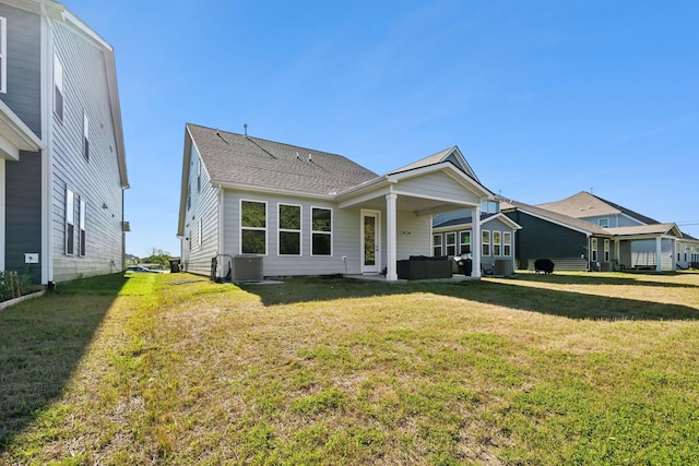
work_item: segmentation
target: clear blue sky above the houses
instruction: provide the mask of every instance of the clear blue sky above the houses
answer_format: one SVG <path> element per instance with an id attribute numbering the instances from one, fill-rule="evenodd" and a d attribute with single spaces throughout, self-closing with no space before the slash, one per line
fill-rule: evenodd
<path id="1" fill-rule="evenodd" d="M 699 1 L 64 3 L 115 48 L 130 253 L 179 254 L 186 122 L 378 174 L 457 145 L 503 196 L 699 237 Z"/>

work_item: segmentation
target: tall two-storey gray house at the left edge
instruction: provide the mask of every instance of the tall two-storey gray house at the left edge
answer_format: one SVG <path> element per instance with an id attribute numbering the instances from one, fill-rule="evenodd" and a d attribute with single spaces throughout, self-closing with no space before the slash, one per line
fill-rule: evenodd
<path id="1" fill-rule="evenodd" d="M 61 3 L 0 1 L 0 270 L 123 268 L 128 188 L 112 48 Z"/>

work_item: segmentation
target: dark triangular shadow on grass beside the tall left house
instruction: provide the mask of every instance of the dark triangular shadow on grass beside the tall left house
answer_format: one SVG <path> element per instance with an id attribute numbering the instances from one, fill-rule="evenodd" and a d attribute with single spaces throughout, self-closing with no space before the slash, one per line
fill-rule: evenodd
<path id="1" fill-rule="evenodd" d="M 0 312 L 0 452 L 61 395 L 127 279 L 59 284 Z"/>

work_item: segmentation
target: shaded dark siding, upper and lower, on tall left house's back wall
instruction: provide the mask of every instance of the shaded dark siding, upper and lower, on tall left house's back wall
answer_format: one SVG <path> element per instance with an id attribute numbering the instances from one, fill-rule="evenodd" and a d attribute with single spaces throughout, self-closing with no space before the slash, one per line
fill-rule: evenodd
<path id="1" fill-rule="evenodd" d="M 7 93 L 2 101 L 37 135 L 42 135 L 40 20 L 37 14 L 0 4 L 7 19 Z M 42 155 L 21 152 L 20 160 L 5 163 L 5 266 L 23 273 L 24 253 L 42 250 Z M 28 265 L 39 283 L 39 264 Z"/>

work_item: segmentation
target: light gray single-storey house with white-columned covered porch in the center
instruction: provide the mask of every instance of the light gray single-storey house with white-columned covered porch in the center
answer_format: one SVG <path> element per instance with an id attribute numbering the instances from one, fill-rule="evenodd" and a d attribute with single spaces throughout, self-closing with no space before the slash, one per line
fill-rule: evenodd
<path id="1" fill-rule="evenodd" d="M 396 261 L 433 254 L 433 215 L 479 219 L 488 200 L 458 147 L 378 176 L 340 155 L 187 124 L 177 235 L 183 270 L 216 278 L 256 254 L 264 276 L 396 280 Z M 472 230 L 479 238 L 481 223 Z M 479 251 L 474 241 L 475 276 Z"/>

